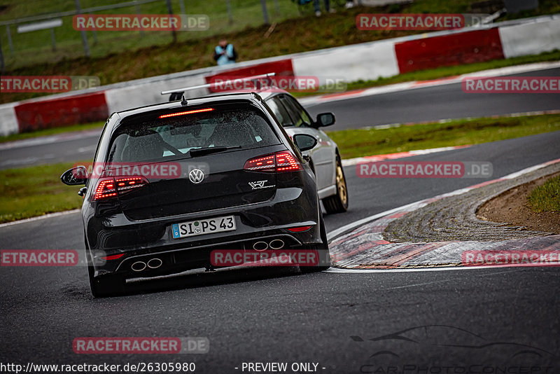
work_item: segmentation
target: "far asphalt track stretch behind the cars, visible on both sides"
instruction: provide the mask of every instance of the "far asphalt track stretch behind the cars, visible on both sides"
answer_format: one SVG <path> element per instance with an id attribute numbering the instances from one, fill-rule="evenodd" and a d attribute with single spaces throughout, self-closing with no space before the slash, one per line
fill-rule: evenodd
<path id="1" fill-rule="evenodd" d="M 560 76 L 560 69 L 531 71 L 517 76 Z M 509 113 L 526 113 L 560 109 L 558 95 L 553 94 L 472 94 L 460 83 L 416 88 L 401 92 L 345 99 L 309 106 L 312 116 L 332 111 L 337 123 L 328 130 L 344 130 L 373 125 L 484 117 Z M 99 133 L 48 144 L 31 144 L 5 148 L 0 144 L 0 169 L 53 162 L 90 160 Z"/>

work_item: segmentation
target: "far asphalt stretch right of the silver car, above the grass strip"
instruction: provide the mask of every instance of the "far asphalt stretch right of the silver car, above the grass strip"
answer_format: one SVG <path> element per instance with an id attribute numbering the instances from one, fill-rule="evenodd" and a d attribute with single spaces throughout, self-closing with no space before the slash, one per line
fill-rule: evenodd
<path id="1" fill-rule="evenodd" d="M 531 71 L 512 76 L 560 76 L 560 69 Z M 454 118 L 478 118 L 509 113 L 560 109 L 558 95 L 465 93 L 461 83 L 416 88 L 314 105 L 312 116 L 332 111 L 337 123 L 329 130 L 372 125 L 419 123 Z"/>

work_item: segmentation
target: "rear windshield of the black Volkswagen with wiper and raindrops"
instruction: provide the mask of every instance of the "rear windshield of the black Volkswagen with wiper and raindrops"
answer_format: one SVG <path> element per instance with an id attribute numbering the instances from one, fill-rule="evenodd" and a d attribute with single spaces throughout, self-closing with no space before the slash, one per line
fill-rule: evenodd
<path id="1" fill-rule="evenodd" d="M 196 148 L 235 151 L 280 144 L 264 113 L 250 104 L 186 107 L 125 120 L 113 134 L 107 162 L 184 158 Z"/>

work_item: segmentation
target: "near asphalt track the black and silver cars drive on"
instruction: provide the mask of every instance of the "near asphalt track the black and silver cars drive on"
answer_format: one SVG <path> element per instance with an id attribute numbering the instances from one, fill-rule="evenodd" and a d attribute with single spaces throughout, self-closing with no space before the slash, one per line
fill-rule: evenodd
<path id="1" fill-rule="evenodd" d="M 560 158 L 559 144 L 554 132 L 411 159 L 489 161 L 495 179 Z M 354 167 L 345 171 L 350 209 L 325 216 L 328 230 L 486 180 L 358 179 Z M 81 251 L 82 233 L 79 214 L 67 214 L 0 227 L 0 248 Z M 318 363 L 319 373 L 560 372 L 559 268 L 230 270 L 139 284 L 151 292 L 106 299 L 92 298 L 83 267 L 3 267 L 0 284 L 1 363 L 195 362 L 195 373 L 248 373 L 244 362 Z M 72 340 L 87 336 L 207 337 L 210 351 L 73 353 Z"/>

